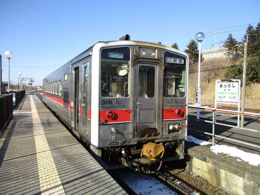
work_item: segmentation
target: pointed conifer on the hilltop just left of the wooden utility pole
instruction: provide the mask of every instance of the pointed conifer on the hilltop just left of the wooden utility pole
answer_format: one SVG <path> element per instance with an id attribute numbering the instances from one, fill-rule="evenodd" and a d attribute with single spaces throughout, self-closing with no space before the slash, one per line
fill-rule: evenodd
<path id="1" fill-rule="evenodd" d="M 227 48 L 225 55 L 229 59 L 239 59 L 240 55 L 238 53 L 238 41 L 229 34 L 228 38 L 224 42 L 224 47 Z"/>

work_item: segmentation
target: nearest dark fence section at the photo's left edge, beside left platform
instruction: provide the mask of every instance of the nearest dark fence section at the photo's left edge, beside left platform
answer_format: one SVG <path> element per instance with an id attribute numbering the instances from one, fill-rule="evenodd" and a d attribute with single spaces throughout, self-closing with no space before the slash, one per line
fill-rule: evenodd
<path id="1" fill-rule="evenodd" d="M 0 137 L 13 117 L 13 94 L 0 97 Z"/>

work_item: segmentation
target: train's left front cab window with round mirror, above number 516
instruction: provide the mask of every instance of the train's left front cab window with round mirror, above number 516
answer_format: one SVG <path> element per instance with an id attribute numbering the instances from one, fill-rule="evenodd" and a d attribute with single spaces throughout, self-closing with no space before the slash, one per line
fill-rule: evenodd
<path id="1" fill-rule="evenodd" d="M 128 47 L 101 51 L 101 97 L 129 97 L 130 49 Z"/>

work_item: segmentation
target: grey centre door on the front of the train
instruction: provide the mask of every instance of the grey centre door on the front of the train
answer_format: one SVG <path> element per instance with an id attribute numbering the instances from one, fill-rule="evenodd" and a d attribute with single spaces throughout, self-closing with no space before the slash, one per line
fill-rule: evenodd
<path id="1" fill-rule="evenodd" d="M 156 128 L 159 131 L 160 109 L 157 107 L 157 98 L 160 98 L 160 90 L 158 89 L 160 83 L 158 83 L 158 66 L 139 63 L 136 68 L 136 133 L 146 128 Z"/>

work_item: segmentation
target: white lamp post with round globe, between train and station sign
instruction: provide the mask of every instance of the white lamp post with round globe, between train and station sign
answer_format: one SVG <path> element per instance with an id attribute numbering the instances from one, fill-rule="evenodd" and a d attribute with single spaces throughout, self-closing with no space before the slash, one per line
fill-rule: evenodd
<path id="1" fill-rule="evenodd" d="M 201 41 L 205 39 L 204 33 L 197 33 L 196 40 L 199 42 L 199 67 L 198 67 L 198 107 L 200 107 L 201 103 L 201 90 L 200 90 L 200 56 L 201 56 Z M 200 119 L 200 110 L 197 109 L 197 119 Z"/>

